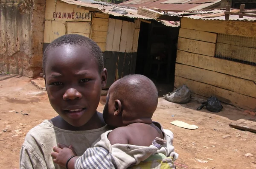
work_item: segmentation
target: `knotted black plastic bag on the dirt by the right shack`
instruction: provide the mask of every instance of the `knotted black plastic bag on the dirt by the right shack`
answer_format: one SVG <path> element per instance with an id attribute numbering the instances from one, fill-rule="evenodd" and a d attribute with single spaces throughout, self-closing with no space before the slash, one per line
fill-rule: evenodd
<path id="1" fill-rule="evenodd" d="M 214 113 L 220 112 L 223 108 L 221 102 L 218 101 L 218 99 L 215 96 L 211 96 L 206 102 L 203 102 L 202 105 L 198 107 L 196 110 L 201 110 L 205 106 L 207 110 Z"/>

